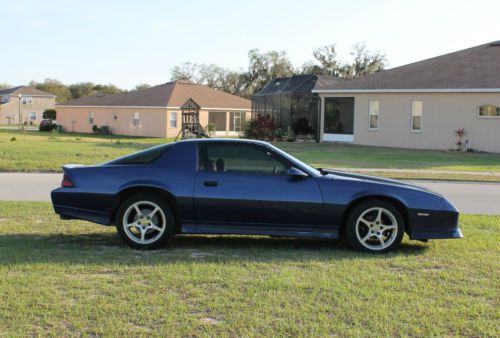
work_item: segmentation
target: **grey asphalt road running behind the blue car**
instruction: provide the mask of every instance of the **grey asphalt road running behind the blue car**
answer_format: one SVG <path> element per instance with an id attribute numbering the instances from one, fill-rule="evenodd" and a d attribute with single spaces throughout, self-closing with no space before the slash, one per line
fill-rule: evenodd
<path id="1" fill-rule="evenodd" d="M 50 201 L 62 174 L 0 173 L 0 201 Z M 412 181 L 448 198 L 467 214 L 500 215 L 500 183 Z"/>

